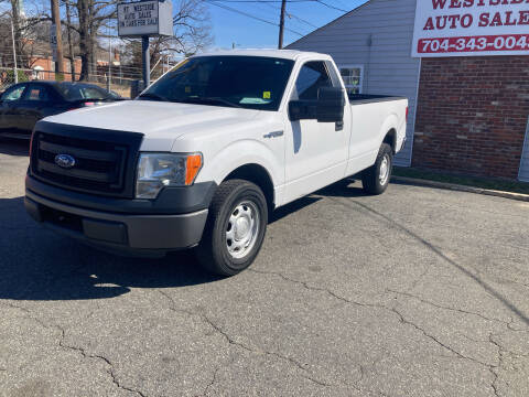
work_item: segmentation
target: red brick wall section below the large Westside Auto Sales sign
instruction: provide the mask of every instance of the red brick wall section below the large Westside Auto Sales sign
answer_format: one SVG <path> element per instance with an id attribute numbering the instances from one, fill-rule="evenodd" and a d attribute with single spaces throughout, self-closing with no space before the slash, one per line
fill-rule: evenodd
<path id="1" fill-rule="evenodd" d="M 529 56 L 423 58 L 413 167 L 516 179 Z"/>

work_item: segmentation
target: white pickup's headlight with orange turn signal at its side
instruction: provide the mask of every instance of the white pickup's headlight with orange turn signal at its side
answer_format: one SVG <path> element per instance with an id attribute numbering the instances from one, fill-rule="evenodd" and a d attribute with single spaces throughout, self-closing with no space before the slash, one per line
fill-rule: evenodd
<path id="1" fill-rule="evenodd" d="M 138 161 L 136 198 L 156 198 L 165 186 L 188 186 L 201 168 L 199 153 L 142 153 Z"/>

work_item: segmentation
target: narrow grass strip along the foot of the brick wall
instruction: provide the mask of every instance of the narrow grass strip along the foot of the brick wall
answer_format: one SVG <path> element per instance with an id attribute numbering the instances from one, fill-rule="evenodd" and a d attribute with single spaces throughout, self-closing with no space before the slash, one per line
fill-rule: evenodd
<path id="1" fill-rule="evenodd" d="M 523 193 L 529 194 L 529 183 L 509 181 L 496 178 L 481 178 L 481 176 L 467 176 L 460 174 L 451 174 L 438 171 L 427 171 L 412 168 L 396 167 L 393 169 L 393 175 L 415 178 L 428 181 L 453 183 L 465 186 L 498 190 L 504 192 Z"/>

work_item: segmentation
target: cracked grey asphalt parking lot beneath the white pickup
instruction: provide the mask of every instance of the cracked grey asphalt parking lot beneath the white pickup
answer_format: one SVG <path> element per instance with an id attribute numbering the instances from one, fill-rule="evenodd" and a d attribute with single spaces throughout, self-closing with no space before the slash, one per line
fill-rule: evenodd
<path id="1" fill-rule="evenodd" d="M 0 395 L 529 396 L 529 203 L 338 183 L 218 279 L 41 228 L 26 150 L 0 142 Z"/>

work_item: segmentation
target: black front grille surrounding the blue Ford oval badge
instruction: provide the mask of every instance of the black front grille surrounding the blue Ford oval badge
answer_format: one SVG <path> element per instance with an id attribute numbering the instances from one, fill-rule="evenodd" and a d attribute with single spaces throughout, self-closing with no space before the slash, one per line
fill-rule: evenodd
<path id="1" fill-rule="evenodd" d="M 101 135 L 86 133 L 83 138 L 72 135 L 35 130 L 32 142 L 31 171 L 43 182 L 68 190 L 93 194 L 128 196 L 133 194 L 133 168 L 140 141 L 127 132 L 116 140 L 99 140 Z M 105 136 L 105 135 L 102 135 Z M 67 169 L 57 165 L 57 154 L 68 154 L 75 165 Z"/>

